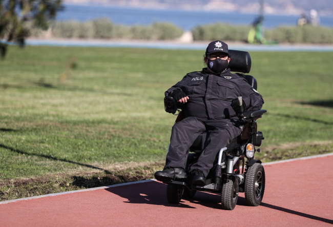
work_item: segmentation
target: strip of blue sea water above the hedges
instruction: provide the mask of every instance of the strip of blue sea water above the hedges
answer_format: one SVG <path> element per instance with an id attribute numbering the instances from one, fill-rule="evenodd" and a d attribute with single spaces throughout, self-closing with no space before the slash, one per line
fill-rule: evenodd
<path id="1" fill-rule="evenodd" d="M 109 18 L 113 23 L 123 25 L 149 25 L 154 22 L 171 22 L 184 30 L 195 26 L 216 22 L 235 25 L 251 25 L 258 14 L 240 12 L 208 12 L 184 10 L 155 10 L 111 6 L 65 5 L 65 10 L 57 14 L 57 20 L 75 19 L 85 21 L 101 17 Z M 281 25 L 295 26 L 297 15 L 265 15 L 264 26 L 273 28 Z M 333 27 L 333 16 L 320 17 L 321 26 Z"/>

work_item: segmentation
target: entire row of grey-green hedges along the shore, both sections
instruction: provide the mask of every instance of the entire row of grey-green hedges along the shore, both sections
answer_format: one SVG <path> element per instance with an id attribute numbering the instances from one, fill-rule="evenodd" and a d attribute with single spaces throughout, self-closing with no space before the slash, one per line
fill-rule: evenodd
<path id="1" fill-rule="evenodd" d="M 251 26 L 230 24 L 200 25 L 192 29 L 194 40 L 227 40 L 246 42 Z M 55 22 L 51 26 L 53 37 L 63 38 L 127 38 L 127 39 L 175 39 L 183 30 L 171 23 L 154 23 L 148 26 L 116 25 L 107 18 L 77 22 Z M 45 35 L 31 29 L 32 36 Z M 313 26 L 280 26 L 265 30 L 265 38 L 279 43 L 333 44 L 333 29 Z"/>

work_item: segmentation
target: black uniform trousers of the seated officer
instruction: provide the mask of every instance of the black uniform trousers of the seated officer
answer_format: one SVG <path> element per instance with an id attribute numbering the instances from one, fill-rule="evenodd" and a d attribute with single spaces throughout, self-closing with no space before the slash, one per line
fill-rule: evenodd
<path id="1" fill-rule="evenodd" d="M 198 161 L 190 169 L 190 171 L 201 170 L 205 177 L 213 168 L 213 162 L 220 149 L 226 147 L 232 139 L 241 134 L 240 125 L 234 119 L 200 120 L 196 117 L 186 117 L 172 127 L 165 167 L 185 169 L 189 148 L 198 135 L 205 131 L 207 135 L 203 150 Z"/>

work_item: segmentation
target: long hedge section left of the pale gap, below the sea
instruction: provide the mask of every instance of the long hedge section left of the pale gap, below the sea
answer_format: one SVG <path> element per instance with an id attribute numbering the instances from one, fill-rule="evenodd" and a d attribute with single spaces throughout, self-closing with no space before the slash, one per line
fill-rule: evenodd
<path id="1" fill-rule="evenodd" d="M 52 36 L 63 38 L 129 38 L 129 39 L 175 39 L 183 30 L 171 23 L 154 23 L 148 26 L 125 26 L 113 24 L 107 18 L 77 22 L 55 22 Z M 32 36 L 41 36 L 40 30 L 32 30 Z"/>

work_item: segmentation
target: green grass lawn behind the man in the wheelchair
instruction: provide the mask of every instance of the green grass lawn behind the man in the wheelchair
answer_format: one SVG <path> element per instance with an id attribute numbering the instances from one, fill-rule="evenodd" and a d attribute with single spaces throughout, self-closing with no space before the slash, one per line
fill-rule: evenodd
<path id="1" fill-rule="evenodd" d="M 110 174 L 131 163 L 162 163 L 175 120 L 164 112 L 164 91 L 201 70 L 202 54 L 10 47 L 0 61 L 0 181 L 57 174 L 73 179 L 80 173 Z M 251 57 L 251 75 L 268 111 L 258 121 L 265 137 L 259 157 L 332 152 L 333 53 L 251 52 Z M 77 68 L 69 67 L 73 63 Z M 312 146 L 311 152 L 302 152 L 304 146 Z"/>

